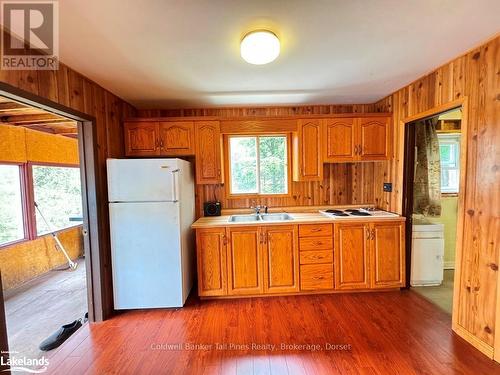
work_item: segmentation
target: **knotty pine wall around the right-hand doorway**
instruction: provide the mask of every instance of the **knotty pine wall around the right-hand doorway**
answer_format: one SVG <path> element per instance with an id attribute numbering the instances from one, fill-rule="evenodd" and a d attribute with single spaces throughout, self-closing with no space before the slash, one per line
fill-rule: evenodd
<path id="1" fill-rule="evenodd" d="M 434 107 L 465 98 L 467 181 L 465 186 L 462 269 L 456 323 L 491 349 L 500 326 L 497 300 L 500 256 L 500 37 L 436 69 L 375 103 L 393 112 L 397 150 L 385 174 L 397 181 L 389 207 L 401 212 L 402 121 Z M 460 329 L 460 328 L 458 328 Z M 500 354 L 500 332 L 495 353 Z M 500 355 L 498 359 L 500 360 Z"/>

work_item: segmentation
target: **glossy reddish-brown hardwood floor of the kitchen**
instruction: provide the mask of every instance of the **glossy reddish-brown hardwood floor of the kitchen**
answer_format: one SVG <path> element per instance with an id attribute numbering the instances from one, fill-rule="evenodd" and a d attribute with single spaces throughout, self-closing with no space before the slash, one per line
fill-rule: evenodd
<path id="1" fill-rule="evenodd" d="M 49 373 L 500 374 L 450 327 L 448 314 L 412 291 L 191 297 L 183 309 L 85 325 L 50 357 Z"/>

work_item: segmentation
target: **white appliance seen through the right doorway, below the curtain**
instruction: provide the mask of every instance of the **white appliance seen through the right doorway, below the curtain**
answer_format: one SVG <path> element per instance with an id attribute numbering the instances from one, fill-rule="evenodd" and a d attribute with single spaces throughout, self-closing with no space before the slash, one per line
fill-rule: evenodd
<path id="1" fill-rule="evenodd" d="M 444 225 L 414 221 L 412 226 L 411 286 L 441 285 L 444 269 Z"/>

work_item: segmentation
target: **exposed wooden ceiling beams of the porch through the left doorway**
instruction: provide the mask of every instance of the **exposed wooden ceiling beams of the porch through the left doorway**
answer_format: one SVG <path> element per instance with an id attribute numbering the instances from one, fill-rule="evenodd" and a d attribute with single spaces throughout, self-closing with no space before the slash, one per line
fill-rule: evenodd
<path id="1" fill-rule="evenodd" d="M 76 121 L 0 96 L 0 126 L 2 124 L 70 138 L 78 137 Z"/>

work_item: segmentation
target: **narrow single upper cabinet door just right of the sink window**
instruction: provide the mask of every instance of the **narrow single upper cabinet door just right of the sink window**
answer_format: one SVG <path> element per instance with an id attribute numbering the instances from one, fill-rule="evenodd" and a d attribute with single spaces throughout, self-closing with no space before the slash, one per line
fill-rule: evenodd
<path id="1" fill-rule="evenodd" d="M 321 152 L 321 121 L 299 120 L 294 136 L 294 180 L 323 180 L 323 154 Z"/>

